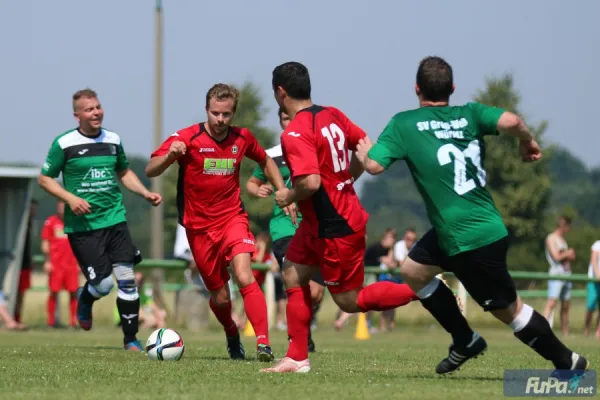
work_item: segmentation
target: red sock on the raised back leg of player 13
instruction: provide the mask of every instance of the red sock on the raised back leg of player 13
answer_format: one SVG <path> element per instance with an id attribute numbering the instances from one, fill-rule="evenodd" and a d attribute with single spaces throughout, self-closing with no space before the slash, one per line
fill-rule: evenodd
<path id="1" fill-rule="evenodd" d="M 406 283 L 383 281 L 362 288 L 358 293 L 357 304 L 363 312 L 386 311 L 418 299 Z"/>

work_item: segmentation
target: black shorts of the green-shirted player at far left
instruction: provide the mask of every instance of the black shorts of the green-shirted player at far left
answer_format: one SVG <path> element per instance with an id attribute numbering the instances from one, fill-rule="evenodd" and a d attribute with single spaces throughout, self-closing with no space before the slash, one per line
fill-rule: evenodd
<path id="1" fill-rule="evenodd" d="M 113 264 L 134 264 L 141 259 L 136 256 L 137 249 L 125 222 L 90 232 L 69 233 L 68 236 L 81 272 L 91 285 L 110 276 Z"/>

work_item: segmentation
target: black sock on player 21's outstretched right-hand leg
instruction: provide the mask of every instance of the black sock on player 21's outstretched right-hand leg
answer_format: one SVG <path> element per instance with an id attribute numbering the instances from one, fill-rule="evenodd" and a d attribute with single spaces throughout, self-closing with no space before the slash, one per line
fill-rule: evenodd
<path id="1" fill-rule="evenodd" d="M 540 356 L 552 361 L 557 369 L 571 369 L 573 352 L 556 337 L 546 318 L 537 311 L 533 311 L 527 325 L 515 332 L 515 336 Z"/>

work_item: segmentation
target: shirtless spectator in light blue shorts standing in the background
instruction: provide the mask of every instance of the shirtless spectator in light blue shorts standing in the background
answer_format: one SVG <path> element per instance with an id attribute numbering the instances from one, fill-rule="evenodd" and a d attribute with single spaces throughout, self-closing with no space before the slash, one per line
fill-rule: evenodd
<path id="1" fill-rule="evenodd" d="M 571 275 L 571 261 L 575 260 L 575 250 L 569 248 L 565 235 L 571 230 L 571 218 L 561 216 L 556 229 L 546 237 L 546 259 L 550 264 L 550 275 Z M 563 335 L 569 334 L 569 301 L 573 284 L 563 280 L 548 281 L 548 302 L 544 317 L 552 326 L 552 316 L 558 299 L 561 300 L 560 322 Z"/>

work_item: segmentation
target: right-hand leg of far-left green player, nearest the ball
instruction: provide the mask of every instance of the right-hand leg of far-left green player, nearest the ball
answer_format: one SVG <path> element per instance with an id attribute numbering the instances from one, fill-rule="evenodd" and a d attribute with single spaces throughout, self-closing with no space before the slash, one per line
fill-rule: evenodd
<path id="1" fill-rule="evenodd" d="M 117 309 L 121 316 L 123 346 L 125 350 L 143 351 L 144 347 L 137 339 L 140 295 L 133 271 L 136 248 L 126 223 L 111 226 L 108 232 L 106 253 L 117 280 Z"/>

